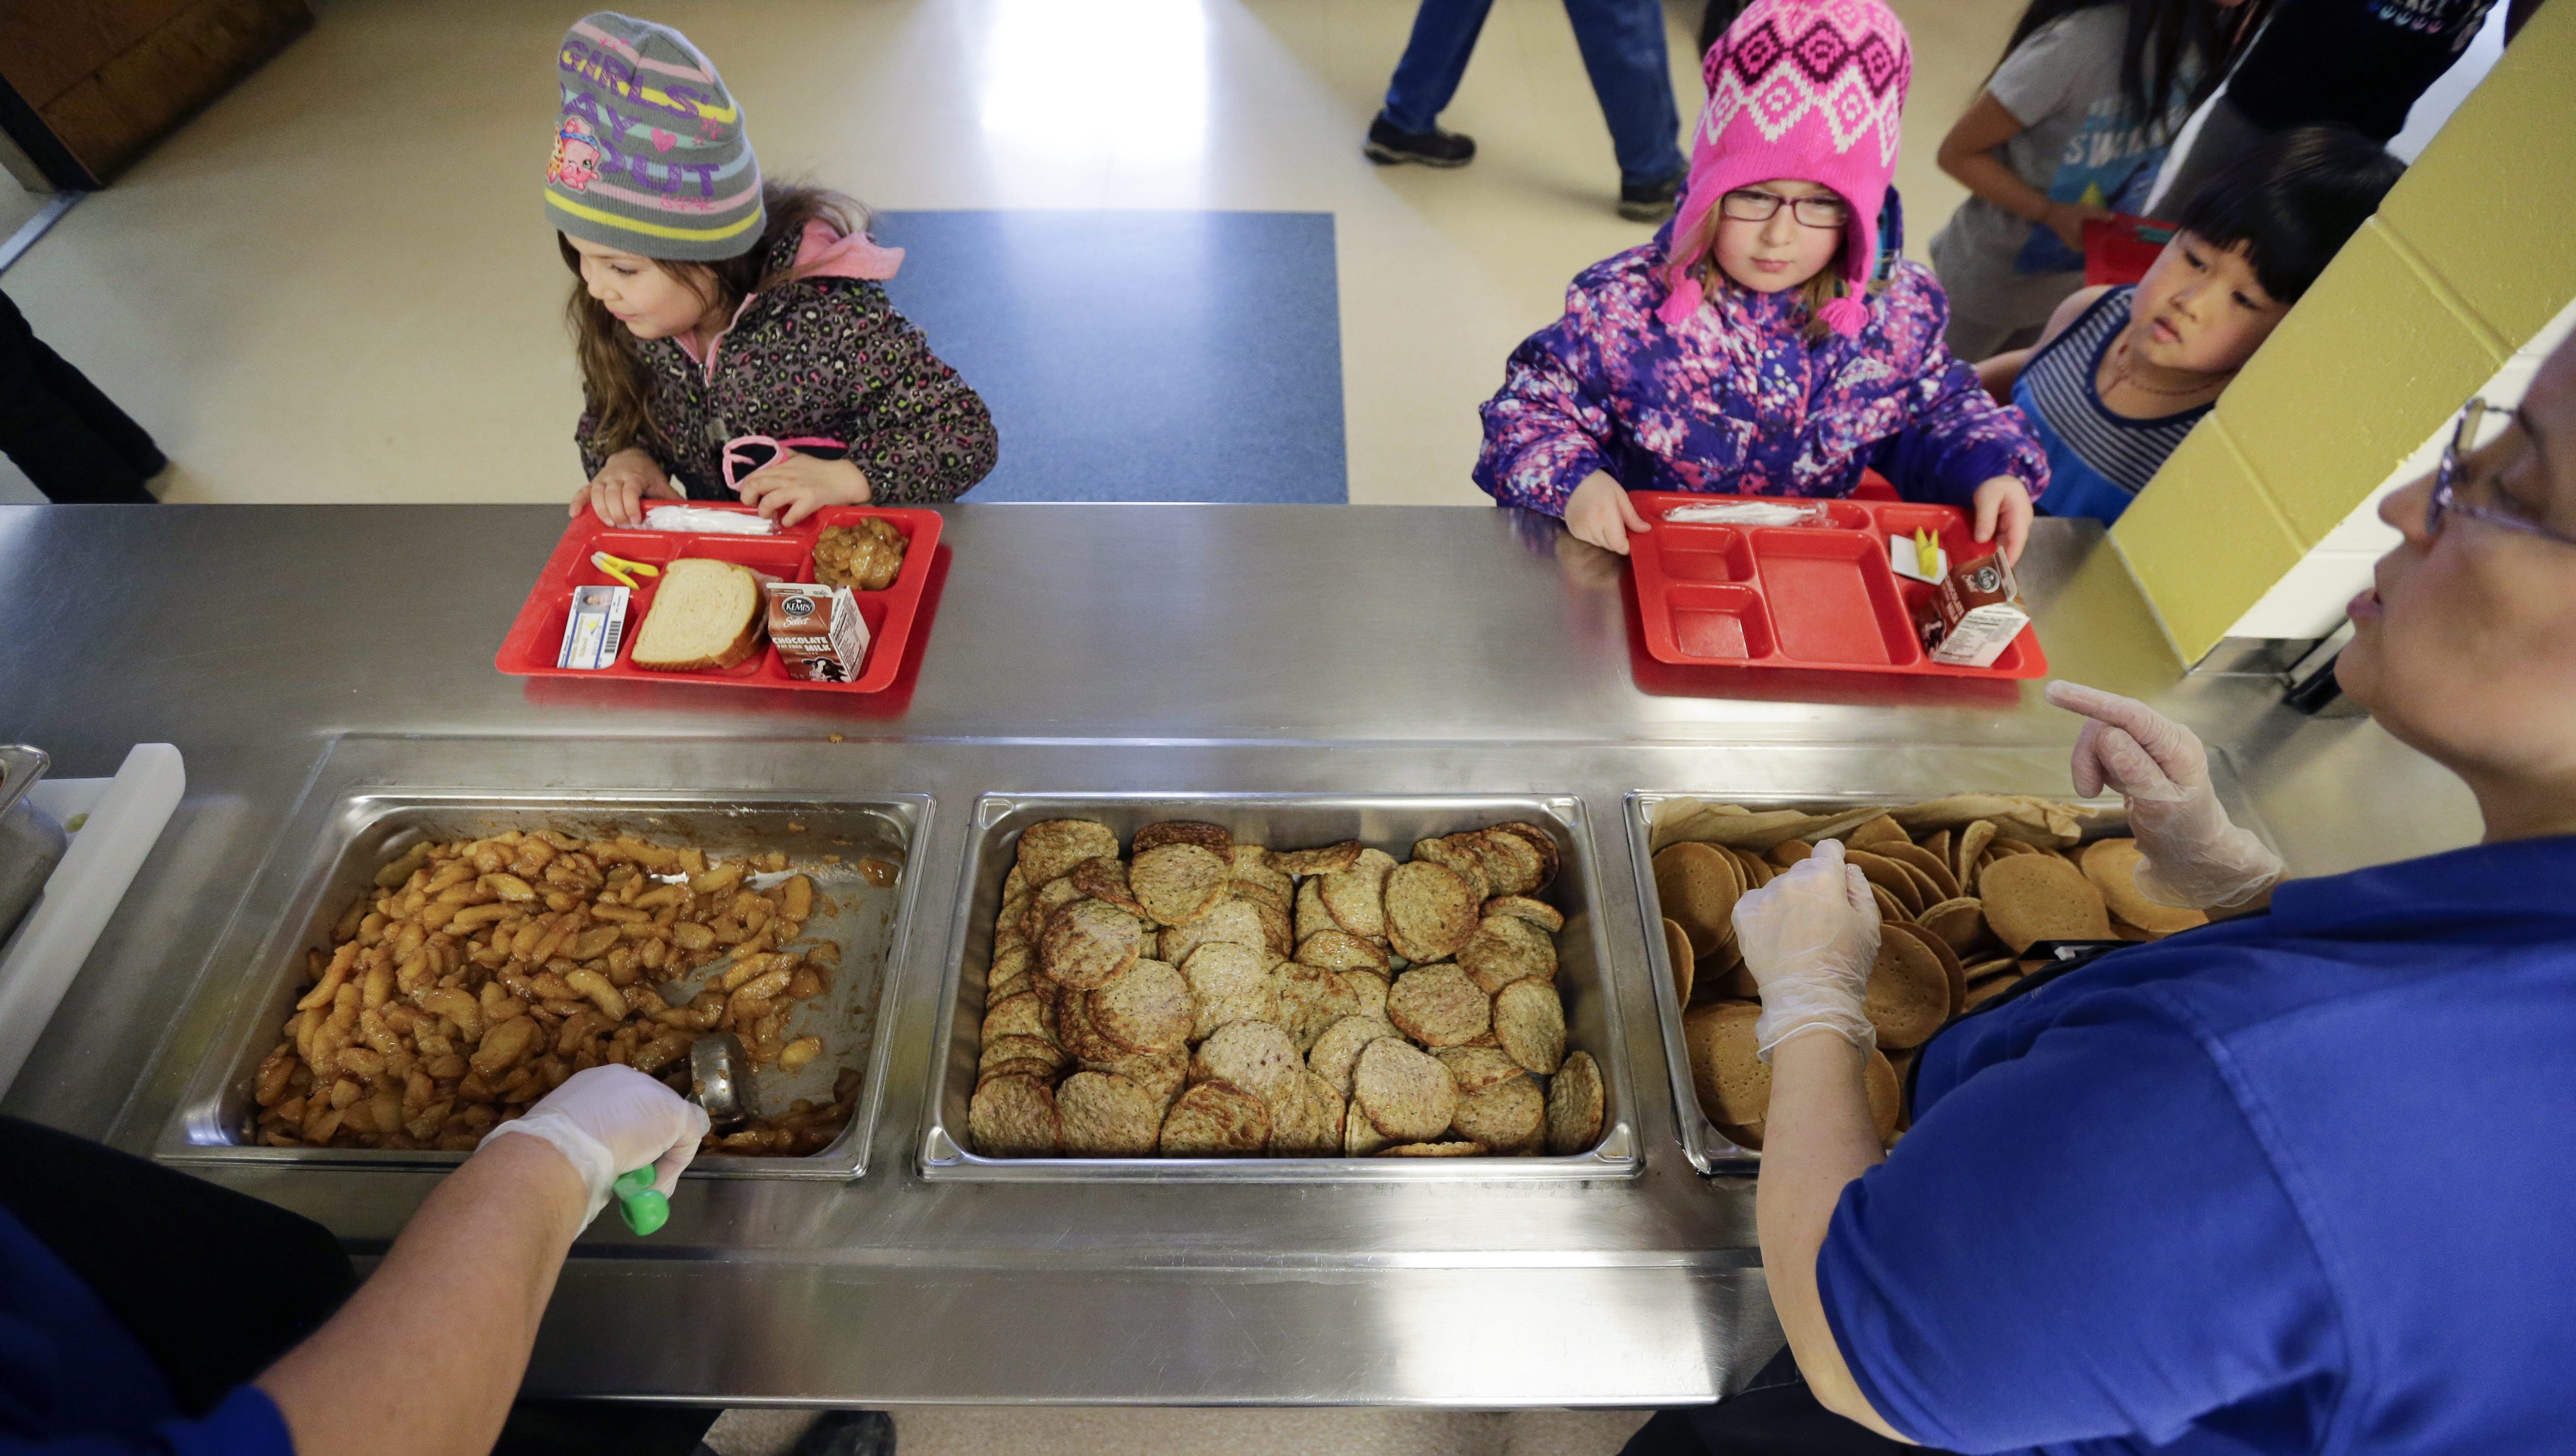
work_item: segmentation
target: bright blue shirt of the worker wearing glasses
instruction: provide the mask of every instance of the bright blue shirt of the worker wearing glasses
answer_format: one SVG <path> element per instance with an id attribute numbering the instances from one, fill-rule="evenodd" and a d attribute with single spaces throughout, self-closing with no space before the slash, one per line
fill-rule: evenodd
<path id="1" fill-rule="evenodd" d="M 1942 1033 L 1834 1340 L 1953 1451 L 2576 1451 L 2576 838 L 2282 884 Z"/>

